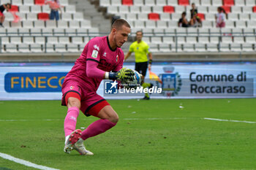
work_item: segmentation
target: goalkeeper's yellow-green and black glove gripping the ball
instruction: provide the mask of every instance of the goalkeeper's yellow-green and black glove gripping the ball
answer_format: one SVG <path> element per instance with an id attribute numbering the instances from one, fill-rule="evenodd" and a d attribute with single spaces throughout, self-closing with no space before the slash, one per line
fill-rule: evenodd
<path id="1" fill-rule="evenodd" d="M 135 73 L 132 71 L 132 69 L 126 69 L 122 68 L 118 72 L 110 72 L 109 73 L 109 79 L 110 80 L 118 80 L 121 82 L 125 82 L 125 80 L 134 80 L 133 77 Z"/>

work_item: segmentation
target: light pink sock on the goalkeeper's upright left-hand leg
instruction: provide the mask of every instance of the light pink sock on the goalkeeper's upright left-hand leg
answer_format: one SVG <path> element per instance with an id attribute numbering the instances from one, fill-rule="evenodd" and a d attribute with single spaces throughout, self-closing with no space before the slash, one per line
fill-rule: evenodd
<path id="1" fill-rule="evenodd" d="M 75 125 L 77 123 L 78 115 L 79 115 L 78 107 L 70 107 L 67 110 L 67 116 L 64 120 L 65 136 L 68 136 L 69 134 L 72 133 L 72 131 L 75 131 Z"/>

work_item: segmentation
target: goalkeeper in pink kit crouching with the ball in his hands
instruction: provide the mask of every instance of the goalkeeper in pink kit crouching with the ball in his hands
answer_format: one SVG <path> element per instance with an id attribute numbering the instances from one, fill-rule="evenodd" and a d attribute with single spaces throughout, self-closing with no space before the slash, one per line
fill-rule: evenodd
<path id="1" fill-rule="evenodd" d="M 75 61 L 75 66 L 65 77 L 61 103 L 67 106 L 64 152 L 77 150 L 80 155 L 93 155 L 86 150 L 83 141 L 108 131 L 118 122 L 115 110 L 96 92 L 103 79 L 123 82 L 133 80 L 134 72 L 122 69 L 124 53 L 120 48 L 127 42 L 129 33 L 129 23 L 122 19 L 116 20 L 108 36 L 95 37 L 87 43 L 80 58 Z M 75 130 L 79 111 L 86 116 L 99 117 L 99 120 L 91 123 L 84 131 Z"/>

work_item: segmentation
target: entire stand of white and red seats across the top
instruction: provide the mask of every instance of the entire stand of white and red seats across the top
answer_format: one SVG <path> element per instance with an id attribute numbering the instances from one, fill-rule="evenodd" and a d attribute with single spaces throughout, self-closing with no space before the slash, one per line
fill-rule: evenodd
<path id="1" fill-rule="evenodd" d="M 75 6 L 78 1 L 69 4 L 68 0 L 60 0 L 64 8 L 59 21 L 49 20 L 50 8 L 45 5 L 45 0 L 1 0 L 1 4 L 10 1 L 12 11 L 20 17 L 20 21 L 13 23 L 12 14 L 5 12 L 4 28 L 0 29 L 1 53 L 79 53 L 84 43 L 98 36 L 99 30 L 102 30 L 100 26 L 93 26 L 96 18 L 84 17 L 84 11 L 78 11 L 78 6 Z M 119 16 L 127 20 L 132 26 L 132 36 L 138 30 L 143 31 L 143 40 L 154 52 L 256 50 L 255 0 L 97 1 L 100 8 L 106 9 L 106 16 Z M 182 12 L 187 12 L 187 19 L 190 18 L 192 3 L 196 4 L 203 26 L 179 28 L 178 19 Z M 222 29 L 216 28 L 217 7 L 223 7 L 227 12 L 226 26 Z M 91 12 L 90 9 L 86 10 Z"/>

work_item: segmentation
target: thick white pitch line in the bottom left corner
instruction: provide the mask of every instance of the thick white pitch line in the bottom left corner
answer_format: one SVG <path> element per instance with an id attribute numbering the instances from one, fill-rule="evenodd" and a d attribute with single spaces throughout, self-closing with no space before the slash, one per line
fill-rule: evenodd
<path id="1" fill-rule="evenodd" d="M 23 159 L 19 159 L 19 158 L 15 158 L 11 155 L 7 155 L 5 153 L 1 153 L 0 152 L 0 157 L 1 158 L 4 158 L 4 159 L 7 159 L 7 160 L 10 160 L 10 161 L 13 161 L 15 163 L 20 163 L 20 164 L 23 164 L 24 166 L 30 166 L 30 167 L 33 167 L 35 169 L 42 169 L 42 170 L 59 170 L 59 169 L 53 169 L 53 168 L 50 168 L 48 166 L 40 166 L 40 165 L 37 165 L 35 163 L 31 163 L 29 161 L 25 161 Z"/>

